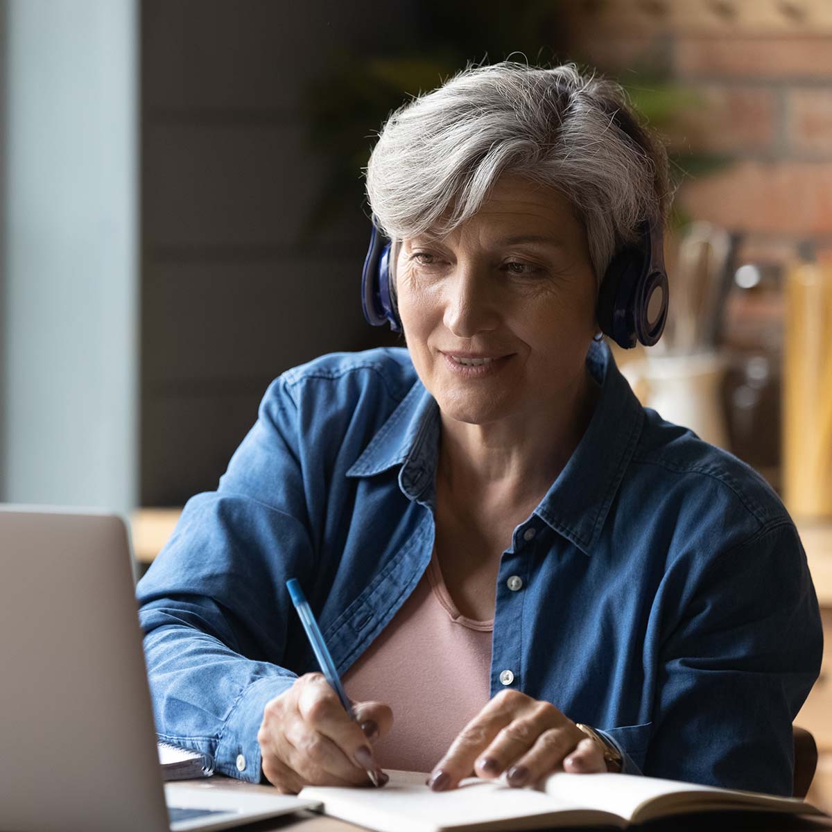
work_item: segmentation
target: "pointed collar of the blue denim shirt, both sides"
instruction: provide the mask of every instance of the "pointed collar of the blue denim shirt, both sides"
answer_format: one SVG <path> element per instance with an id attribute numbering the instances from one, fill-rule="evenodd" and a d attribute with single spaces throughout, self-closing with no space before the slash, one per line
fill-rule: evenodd
<path id="1" fill-rule="evenodd" d="M 627 464 L 636 448 L 644 410 L 619 372 L 607 344 L 593 342 L 587 367 L 601 385 L 587 430 L 535 513 L 589 554 L 601 533 Z M 347 471 L 372 477 L 401 465 L 399 488 L 409 499 L 433 494 L 439 409 L 416 381 L 399 406 Z"/>

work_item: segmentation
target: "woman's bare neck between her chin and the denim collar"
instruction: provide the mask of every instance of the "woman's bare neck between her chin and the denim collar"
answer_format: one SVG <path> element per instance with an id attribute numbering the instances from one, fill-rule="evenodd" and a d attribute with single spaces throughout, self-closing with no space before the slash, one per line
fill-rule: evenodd
<path id="1" fill-rule="evenodd" d="M 537 505 L 581 441 L 599 392 L 585 370 L 557 402 L 541 402 L 531 413 L 488 424 L 442 414 L 437 476 L 443 489 L 483 509 Z"/>

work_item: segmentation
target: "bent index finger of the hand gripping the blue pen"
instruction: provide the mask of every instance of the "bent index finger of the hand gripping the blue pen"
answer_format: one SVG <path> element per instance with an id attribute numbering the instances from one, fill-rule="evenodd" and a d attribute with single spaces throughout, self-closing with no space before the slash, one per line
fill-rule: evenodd
<path id="1" fill-rule="evenodd" d="M 349 718 L 338 695 L 320 674 L 310 674 L 310 681 L 302 687 L 298 711 L 306 730 L 295 726 L 290 740 L 301 754 L 313 755 L 314 765 L 355 785 L 367 779 L 367 769 L 378 767 L 364 731 Z M 349 766 L 360 776 L 349 771 Z"/>

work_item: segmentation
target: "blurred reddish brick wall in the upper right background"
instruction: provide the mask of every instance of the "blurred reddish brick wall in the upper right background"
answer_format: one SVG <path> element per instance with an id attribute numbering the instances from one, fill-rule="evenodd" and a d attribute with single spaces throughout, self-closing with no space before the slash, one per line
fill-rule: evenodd
<path id="1" fill-rule="evenodd" d="M 832 245 L 832 2 L 568 2 L 575 55 L 616 77 L 665 75 L 692 93 L 671 149 L 718 156 L 677 204 L 745 232 L 745 255 Z"/>

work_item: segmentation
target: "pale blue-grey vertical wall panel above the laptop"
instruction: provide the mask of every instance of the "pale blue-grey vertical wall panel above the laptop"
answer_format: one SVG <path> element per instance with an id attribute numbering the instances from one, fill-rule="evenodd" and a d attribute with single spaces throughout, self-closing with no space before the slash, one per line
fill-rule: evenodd
<path id="1" fill-rule="evenodd" d="M 2 498 L 136 495 L 135 0 L 7 0 Z"/>

